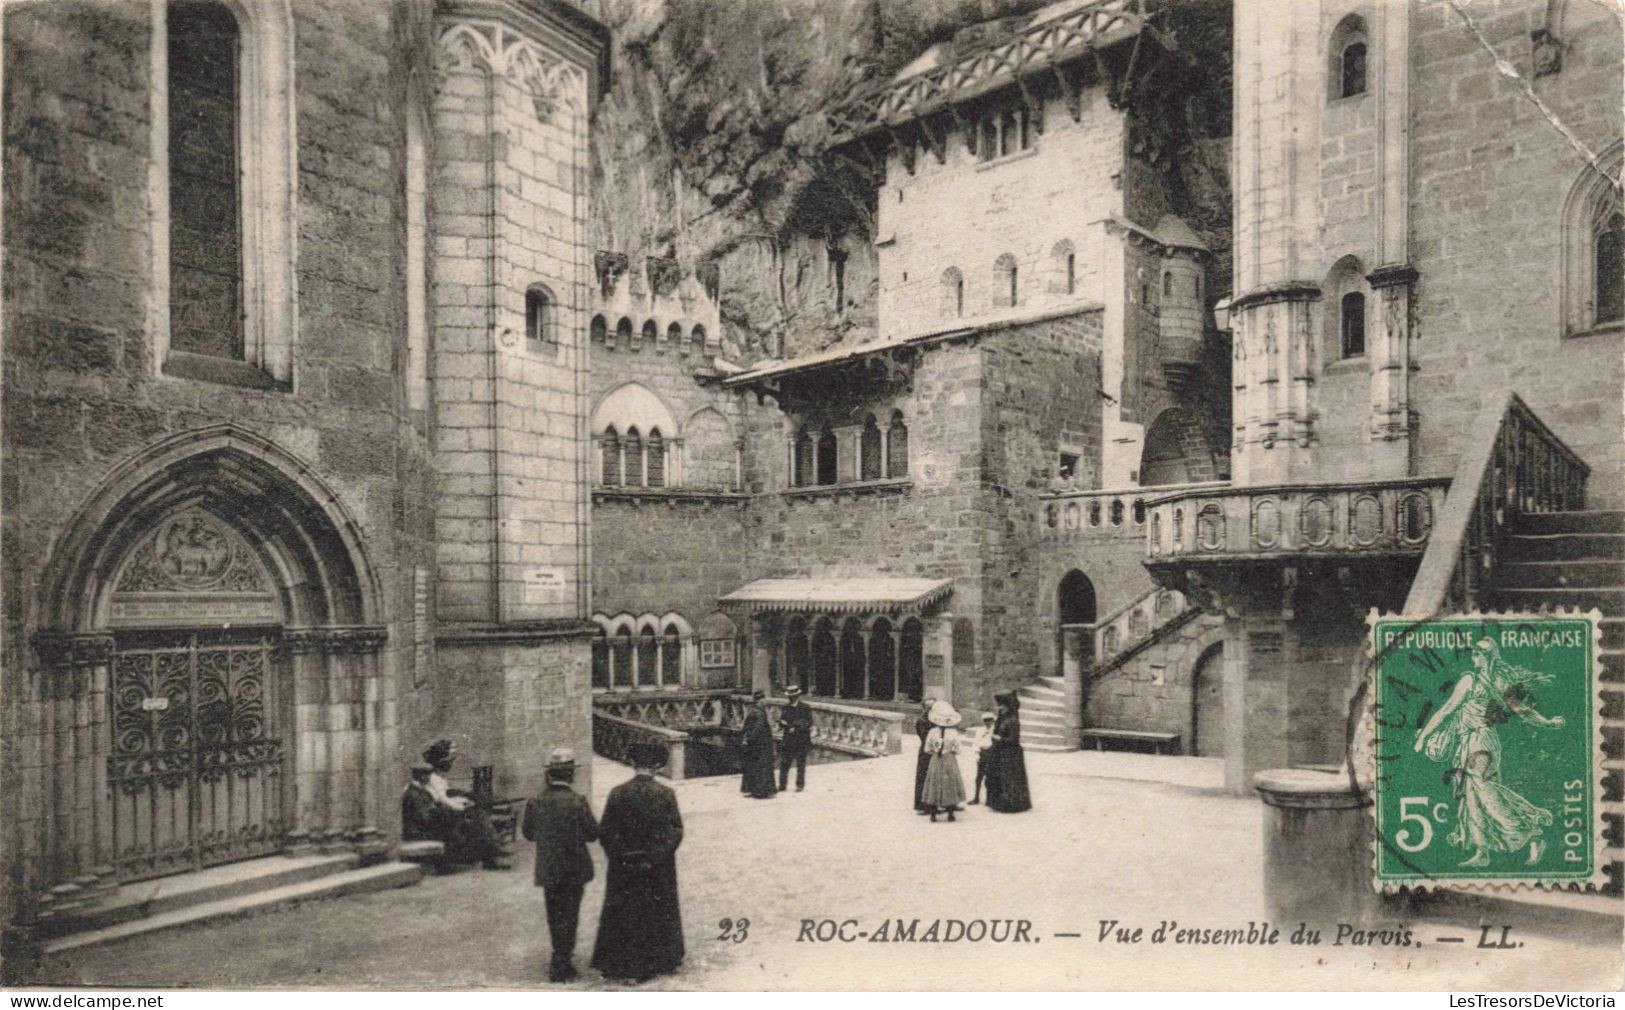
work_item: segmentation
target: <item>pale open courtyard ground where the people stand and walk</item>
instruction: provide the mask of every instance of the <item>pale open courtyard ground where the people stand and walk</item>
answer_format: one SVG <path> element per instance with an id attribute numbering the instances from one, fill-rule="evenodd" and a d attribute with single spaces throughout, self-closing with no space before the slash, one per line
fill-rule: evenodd
<path id="1" fill-rule="evenodd" d="M 1318 948 L 1152 945 L 1162 921 L 1228 929 L 1264 917 L 1259 802 L 1220 794 L 1217 763 L 1204 760 L 1029 753 L 1029 768 L 1032 812 L 970 807 L 957 823 L 910 810 L 907 753 L 812 766 L 806 792 L 770 801 L 741 797 L 733 778 L 678 784 L 689 955 L 679 973 L 644 987 L 1440 989 L 1472 979 L 1482 991 L 1550 987 L 1554 963 L 1563 968 L 1560 987 L 1618 986 L 1617 947 L 1557 937 L 1531 935 L 1511 952 L 1332 947 L 1329 935 Z M 598 766 L 595 810 L 626 776 Z M 583 968 L 603 896 L 593 851 L 600 878 L 582 906 Z M 528 851 L 518 856 L 509 872 L 429 877 L 72 952 L 37 978 L 130 987 L 544 986 L 541 891 L 530 883 Z M 718 939 L 725 917 L 749 919 L 743 942 Z M 855 919 L 848 935 L 895 919 L 920 919 L 920 934 L 933 919 L 1027 919 L 1034 942 L 798 942 L 803 919 L 824 917 Z M 1102 919 L 1142 927 L 1147 939 L 1102 943 Z M 1068 932 L 1081 935 L 1056 935 Z M 616 986 L 585 971 L 572 987 Z"/>

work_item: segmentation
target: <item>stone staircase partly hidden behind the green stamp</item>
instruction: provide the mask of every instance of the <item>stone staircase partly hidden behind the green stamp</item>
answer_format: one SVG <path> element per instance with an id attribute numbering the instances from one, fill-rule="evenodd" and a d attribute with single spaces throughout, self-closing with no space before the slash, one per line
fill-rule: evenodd
<path id="1" fill-rule="evenodd" d="M 1602 680 L 1604 804 L 1609 875 L 1625 880 L 1625 511 L 1547 511 L 1518 518 L 1506 539 L 1490 606 L 1502 611 L 1596 607 L 1602 614 L 1597 653 Z"/>

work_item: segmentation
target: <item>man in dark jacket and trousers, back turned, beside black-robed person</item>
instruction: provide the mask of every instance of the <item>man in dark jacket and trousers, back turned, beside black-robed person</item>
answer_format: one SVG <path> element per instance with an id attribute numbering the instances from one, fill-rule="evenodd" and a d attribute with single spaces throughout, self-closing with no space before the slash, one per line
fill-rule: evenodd
<path id="1" fill-rule="evenodd" d="M 575 752 L 559 747 L 548 755 L 548 784 L 525 804 L 523 833 L 536 843 L 536 887 L 548 906 L 548 939 L 552 960 L 548 979 L 567 982 L 575 978 L 575 927 L 582 911 L 582 891 L 593 878 L 593 859 L 587 843 L 598 841 L 587 797 L 570 788 L 575 781 Z"/>

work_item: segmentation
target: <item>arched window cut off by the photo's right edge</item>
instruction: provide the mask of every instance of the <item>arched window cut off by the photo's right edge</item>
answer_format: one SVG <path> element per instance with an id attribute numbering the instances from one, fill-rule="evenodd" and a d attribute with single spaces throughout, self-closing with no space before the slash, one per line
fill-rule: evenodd
<path id="1" fill-rule="evenodd" d="M 1617 179 L 1622 145 L 1602 156 Z M 1586 167 L 1563 205 L 1563 333 L 1625 323 L 1625 208 L 1602 172 Z"/>

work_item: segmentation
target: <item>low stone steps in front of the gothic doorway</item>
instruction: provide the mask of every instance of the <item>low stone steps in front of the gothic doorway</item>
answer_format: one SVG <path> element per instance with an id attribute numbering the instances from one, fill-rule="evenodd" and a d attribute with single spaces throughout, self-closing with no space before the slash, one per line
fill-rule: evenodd
<path id="1" fill-rule="evenodd" d="M 411 862 L 367 864 L 354 852 L 266 856 L 192 874 L 125 883 L 106 898 L 39 924 L 46 955 L 109 940 L 247 916 L 315 898 L 382 891 L 422 880 Z"/>

